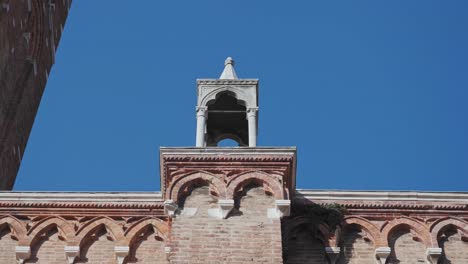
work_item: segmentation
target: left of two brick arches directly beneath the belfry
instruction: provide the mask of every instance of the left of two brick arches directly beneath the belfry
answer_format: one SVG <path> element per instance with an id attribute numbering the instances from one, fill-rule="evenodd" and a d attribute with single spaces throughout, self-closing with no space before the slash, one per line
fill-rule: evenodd
<path id="1" fill-rule="evenodd" d="M 179 201 L 184 189 L 200 180 L 206 182 L 210 188 L 213 188 L 219 198 L 223 199 L 226 197 L 225 184 L 218 176 L 205 171 L 196 171 L 175 178 L 166 192 L 166 195 L 169 195 L 168 199 L 176 202 Z"/>

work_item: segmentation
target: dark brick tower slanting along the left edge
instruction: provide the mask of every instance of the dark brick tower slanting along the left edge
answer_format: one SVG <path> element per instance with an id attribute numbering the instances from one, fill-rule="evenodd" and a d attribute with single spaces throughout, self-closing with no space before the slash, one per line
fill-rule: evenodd
<path id="1" fill-rule="evenodd" d="M 0 190 L 13 187 L 71 0 L 0 0 Z"/>

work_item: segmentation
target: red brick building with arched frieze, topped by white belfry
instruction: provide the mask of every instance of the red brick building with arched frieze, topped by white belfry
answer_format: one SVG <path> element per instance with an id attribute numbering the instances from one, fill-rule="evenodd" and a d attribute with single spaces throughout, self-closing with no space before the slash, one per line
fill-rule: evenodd
<path id="1" fill-rule="evenodd" d="M 0 264 L 468 263 L 468 193 L 297 189 L 296 149 L 256 145 L 258 88 L 231 58 L 197 80 L 196 147 L 160 149 L 160 192 L 0 193 Z"/>

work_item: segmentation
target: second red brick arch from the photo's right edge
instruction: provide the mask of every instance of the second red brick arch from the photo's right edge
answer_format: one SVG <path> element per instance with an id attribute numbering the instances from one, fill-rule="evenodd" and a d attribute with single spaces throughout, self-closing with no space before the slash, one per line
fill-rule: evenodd
<path id="1" fill-rule="evenodd" d="M 388 239 L 391 233 L 401 227 L 408 227 L 417 234 L 418 238 L 421 239 L 422 243 L 426 247 L 431 246 L 429 228 L 423 223 L 409 217 L 400 217 L 383 225 L 381 229 L 382 240 L 388 244 Z"/>

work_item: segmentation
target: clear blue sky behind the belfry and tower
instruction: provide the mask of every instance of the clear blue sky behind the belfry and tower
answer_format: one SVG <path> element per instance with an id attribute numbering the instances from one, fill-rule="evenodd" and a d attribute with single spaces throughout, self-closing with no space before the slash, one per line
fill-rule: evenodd
<path id="1" fill-rule="evenodd" d="M 468 1 L 74 1 L 15 190 L 157 191 L 196 78 L 260 79 L 297 187 L 468 191 Z"/>

